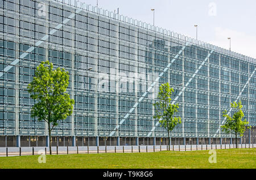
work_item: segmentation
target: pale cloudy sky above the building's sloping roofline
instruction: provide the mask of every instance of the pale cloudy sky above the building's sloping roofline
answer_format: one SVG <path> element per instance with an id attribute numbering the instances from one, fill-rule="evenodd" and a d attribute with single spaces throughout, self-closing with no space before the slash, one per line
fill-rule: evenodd
<path id="1" fill-rule="evenodd" d="M 96 5 L 97 0 L 80 0 Z M 98 0 L 98 7 L 117 10 L 130 18 L 155 25 L 256 58 L 255 0 Z"/>

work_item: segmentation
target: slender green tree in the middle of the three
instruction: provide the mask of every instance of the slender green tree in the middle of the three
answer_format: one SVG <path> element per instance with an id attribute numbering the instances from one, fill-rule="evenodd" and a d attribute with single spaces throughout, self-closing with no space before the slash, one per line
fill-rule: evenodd
<path id="1" fill-rule="evenodd" d="M 158 119 L 160 125 L 163 126 L 168 133 L 169 151 L 170 151 L 170 132 L 174 129 L 177 123 L 181 123 L 180 117 L 174 117 L 178 111 L 178 104 L 171 104 L 171 96 L 174 89 L 170 87 L 169 83 L 161 84 L 155 106 L 154 118 Z"/>

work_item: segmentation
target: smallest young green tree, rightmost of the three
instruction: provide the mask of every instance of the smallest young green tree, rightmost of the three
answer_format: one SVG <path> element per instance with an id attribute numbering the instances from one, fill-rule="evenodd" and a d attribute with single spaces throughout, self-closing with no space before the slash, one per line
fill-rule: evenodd
<path id="1" fill-rule="evenodd" d="M 231 107 L 235 109 L 233 117 L 230 117 L 225 110 L 223 112 L 223 117 L 226 117 L 226 122 L 221 126 L 222 131 L 227 134 L 234 134 L 236 136 L 236 148 L 237 148 L 237 135 L 243 136 L 243 132 L 245 132 L 246 128 L 251 128 L 251 126 L 246 126 L 249 122 L 246 119 L 242 119 L 245 115 L 242 111 L 242 103 L 241 101 L 237 104 L 237 102 L 231 102 Z"/>

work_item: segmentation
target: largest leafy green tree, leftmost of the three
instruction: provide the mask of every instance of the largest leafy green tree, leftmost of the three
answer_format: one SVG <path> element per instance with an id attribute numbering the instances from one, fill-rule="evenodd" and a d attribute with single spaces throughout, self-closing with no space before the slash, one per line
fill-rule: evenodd
<path id="1" fill-rule="evenodd" d="M 70 98 L 66 89 L 69 75 L 64 68 L 53 70 L 49 61 L 41 62 L 36 68 L 35 77 L 27 89 L 30 97 L 36 100 L 31 109 L 31 117 L 38 117 L 38 121 L 46 121 L 49 132 L 49 150 L 51 149 L 51 131 L 57 122 L 72 114 L 75 101 Z"/>

